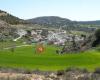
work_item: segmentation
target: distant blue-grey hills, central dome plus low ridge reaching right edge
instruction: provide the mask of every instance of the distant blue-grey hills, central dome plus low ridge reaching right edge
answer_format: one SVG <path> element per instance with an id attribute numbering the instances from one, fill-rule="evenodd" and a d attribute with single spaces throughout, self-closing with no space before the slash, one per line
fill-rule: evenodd
<path id="1" fill-rule="evenodd" d="M 100 20 L 97 20 L 97 21 L 72 21 L 70 19 L 61 18 L 61 17 L 57 17 L 57 16 L 43 16 L 43 17 L 28 19 L 26 21 L 31 22 L 33 24 L 39 24 L 39 25 L 48 26 L 48 27 L 63 26 L 63 27 L 67 27 L 67 28 L 77 28 L 77 27 L 79 27 L 79 25 L 100 25 Z"/>

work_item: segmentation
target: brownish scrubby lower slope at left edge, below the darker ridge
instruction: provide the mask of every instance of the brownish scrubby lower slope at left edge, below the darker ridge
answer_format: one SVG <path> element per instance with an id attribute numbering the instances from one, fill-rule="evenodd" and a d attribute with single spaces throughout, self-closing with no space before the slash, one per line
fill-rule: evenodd
<path id="1" fill-rule="evenodd" d="M 16 30 L 16 27 L 13 27 L 7 22 L 0 20 L 0 41 L 9 40 L 13 37 L 16 37 Z"/>

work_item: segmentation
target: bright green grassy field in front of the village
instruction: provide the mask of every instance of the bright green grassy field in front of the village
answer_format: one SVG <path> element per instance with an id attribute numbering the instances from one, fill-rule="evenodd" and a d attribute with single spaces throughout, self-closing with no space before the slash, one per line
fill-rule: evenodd
<path id="1" fill-rule="evenodd" d="M 59 47 L 46 46 L 44 53 L 35 53 L 34 46 L 0 51 L 0 66 L 40 70 L 60 70 L 68 67 L 86 68 L 94 70 L 100 67 L 100 52 L 89 50 L 76 54 L 56 54 Z"/>

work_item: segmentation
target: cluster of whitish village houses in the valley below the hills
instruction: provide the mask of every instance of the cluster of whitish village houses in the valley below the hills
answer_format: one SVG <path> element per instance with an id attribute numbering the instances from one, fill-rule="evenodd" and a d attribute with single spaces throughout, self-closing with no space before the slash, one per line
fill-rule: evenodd
<path id="1" fill-rule="evenodd" d="M 48 44 L 64 45 L 66 41 L 72 41 L 75 36 L 75 41 L 84 40 L 83 37 L 73 34 L 68 34 L 66 30 L 47 30 L 47 29 L 32 29 L 29 31 L 19 29 L 17 31 L 18 38 L 14 39 L 17 41 L 24 35 L 30 34 L 32 42 L 45 41 Z"/>

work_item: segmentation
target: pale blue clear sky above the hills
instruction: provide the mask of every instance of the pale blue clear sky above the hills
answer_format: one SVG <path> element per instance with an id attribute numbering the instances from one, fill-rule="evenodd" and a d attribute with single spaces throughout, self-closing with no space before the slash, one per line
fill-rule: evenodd
<path id="1" fill-rule="evenodd" d="M 0 9 L 21 19 L 59 16 L 74 21 L 100 20 L 100 0 L 0 0 Z"/>

